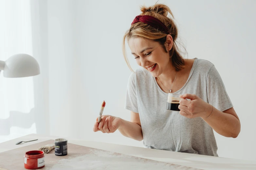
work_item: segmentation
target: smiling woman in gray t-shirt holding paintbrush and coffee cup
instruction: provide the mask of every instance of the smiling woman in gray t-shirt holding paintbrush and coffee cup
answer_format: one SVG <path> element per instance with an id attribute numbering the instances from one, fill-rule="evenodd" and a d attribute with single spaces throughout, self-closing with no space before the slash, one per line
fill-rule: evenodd
<path id="1" fill-rule="evenodd" d="M 173 17 L 169 7 L 156 4 L 141 11 L 123 40 L 127 64 L 125 40 L 141 66 L 128 81 L 125 108 L 131 111 L 131 121 L 105 115 L 95 122 L 94 132 L 118 129 L 143 140 L 146 148 L 218 156 L 213 130 L 233 138 L 240 133 L 220 75 L 209 61 L 182 58 L 177 27 L 167 17 Z M 180 111 L 166 110 L 168 92 L 181 94 Z"/>

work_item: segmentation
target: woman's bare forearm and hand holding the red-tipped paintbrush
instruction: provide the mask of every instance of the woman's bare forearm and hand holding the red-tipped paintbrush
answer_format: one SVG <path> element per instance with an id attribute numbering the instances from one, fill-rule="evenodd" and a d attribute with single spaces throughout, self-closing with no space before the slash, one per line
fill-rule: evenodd
<path id="1" fill-rule="evenodd" d="M 102 133 L 114 133 L 117 129 L 126 137 L 141 141 L 143 140 L 141 121 L 139 113 L 131 111 L 131 121 L 118 117 L 104 115 L 98 123 L 98 118 L 94 124 L 94 132 L 103 129 Z"/>

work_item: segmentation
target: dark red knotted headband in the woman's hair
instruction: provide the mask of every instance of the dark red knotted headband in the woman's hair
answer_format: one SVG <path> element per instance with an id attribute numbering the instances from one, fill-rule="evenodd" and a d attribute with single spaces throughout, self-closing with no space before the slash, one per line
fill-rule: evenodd
<path id="1" fill-rule="evenodd" d="M 158 29 L 160 31 L 162 31 L 165 34 L 170 34 L 168 31 L 168 28 L 164 25 L 164 23 L 162 23 L 160 20 L 158 20 L 155 17 L 152 17 L 150 15 L 138 15 L 134 18 L 133 22 L 131 23 L 134 24 L 136 22 L 144 22 L 152 27 L 154 27 L 155 29 Z"/>

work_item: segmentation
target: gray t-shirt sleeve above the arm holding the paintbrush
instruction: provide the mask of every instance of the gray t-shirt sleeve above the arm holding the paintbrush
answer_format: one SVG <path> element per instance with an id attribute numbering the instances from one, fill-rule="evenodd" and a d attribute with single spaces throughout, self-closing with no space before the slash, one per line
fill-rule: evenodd
<path id="1" fill-rule="evenodd" d="M 139 113 L 136 93 L 136 73 L 132 73 L 128 80 L 125 109 Z"/>

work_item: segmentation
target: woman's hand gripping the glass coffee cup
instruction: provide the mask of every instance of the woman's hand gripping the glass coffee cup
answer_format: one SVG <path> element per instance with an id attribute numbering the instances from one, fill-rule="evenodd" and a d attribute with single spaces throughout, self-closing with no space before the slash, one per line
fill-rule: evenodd
<path id="1" fill-rule="evenodd" d="M 180 95 L 179 114 L 187 118 L 206 118 L 212 112 L 212 106 L 195 94 Z M 186 99 L 190 99 L 186 100 Z"/>

